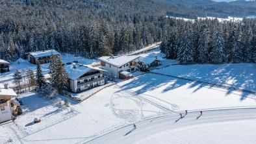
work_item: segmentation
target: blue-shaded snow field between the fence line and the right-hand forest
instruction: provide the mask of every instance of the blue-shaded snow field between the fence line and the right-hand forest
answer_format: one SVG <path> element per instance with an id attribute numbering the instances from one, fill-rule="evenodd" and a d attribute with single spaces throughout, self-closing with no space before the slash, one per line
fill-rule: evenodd
<path id="1" fill-rule="evenodd" d="M 256 90 L 255 64 L 196 64 L 176 65 L 157 69 L 153 72 L 173 75 L 203 82 L 213 82 L 243 90 Z M 198 86 L 199 84 L 195 84 Z M 228 93 L 231 91 L 228 91 Z M 248 93 L 243 93 L 244 97 Z"/>

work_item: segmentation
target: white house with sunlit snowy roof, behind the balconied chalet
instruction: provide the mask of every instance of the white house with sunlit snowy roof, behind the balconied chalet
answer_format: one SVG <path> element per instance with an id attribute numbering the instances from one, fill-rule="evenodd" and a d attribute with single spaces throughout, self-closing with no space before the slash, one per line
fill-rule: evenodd
<path id="1" fill-rule="evenodd" d="M 109 77 L 125 78 L 123 71 L 136 71 L 136 63 L 140 56 L 102 56 L 98 58 L 101 61 L 101 69 L 107 70 L 106 75 Z"/>

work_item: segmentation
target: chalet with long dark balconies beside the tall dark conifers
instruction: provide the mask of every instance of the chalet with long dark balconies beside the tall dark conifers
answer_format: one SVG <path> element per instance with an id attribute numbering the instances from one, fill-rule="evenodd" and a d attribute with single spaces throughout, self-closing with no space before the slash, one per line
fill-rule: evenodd
<path id="1" fill-rule="evenodd" d="M 83 64 L 66 66 L 70 80 L 70 91 L 77 93 L 105 84 L 105 70 Z"/>

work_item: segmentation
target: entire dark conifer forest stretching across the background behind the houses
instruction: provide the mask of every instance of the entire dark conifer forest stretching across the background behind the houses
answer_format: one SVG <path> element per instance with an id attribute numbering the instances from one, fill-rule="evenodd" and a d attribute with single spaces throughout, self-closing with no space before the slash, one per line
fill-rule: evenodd
<path id="1" fill-rule="evenodd" d="M 201 0 L 193 1 L 199 3 Z M 166 17 L 173 12 L 184 17 L 202 16 L 202 12 L 195 14 L 205 3 L 193 9 L 186 8 L 185 3 L 166 0 L 2 0 L 0 57 L 12 62 L 31 51 L 56 49 L 96 58 L 129 53 L 162 41 L 161 51 L 182 64 L 256 62 L 255 19 L 220 23 L 216 19 L 183 21 Z M 203 16 L 234 16 L 232 9 L 237 8 L 237 3 L 225 3 L 227 6 L 212 3 L 207 5 L 207 14 Z M 217 10 L 209 10 L 216 6 Z M 239 6 L 237 12 L 242 16 L 256 14 L 255 1 Z"/>

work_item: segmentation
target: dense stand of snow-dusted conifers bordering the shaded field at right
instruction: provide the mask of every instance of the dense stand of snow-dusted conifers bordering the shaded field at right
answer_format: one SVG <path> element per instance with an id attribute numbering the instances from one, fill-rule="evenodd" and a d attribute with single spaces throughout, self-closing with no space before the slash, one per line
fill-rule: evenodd
<path id="1" fill-rule="evenodd" d="M 166 19 L 160 49 L 181 64 L 256 62 L 256 19 Z"/>

